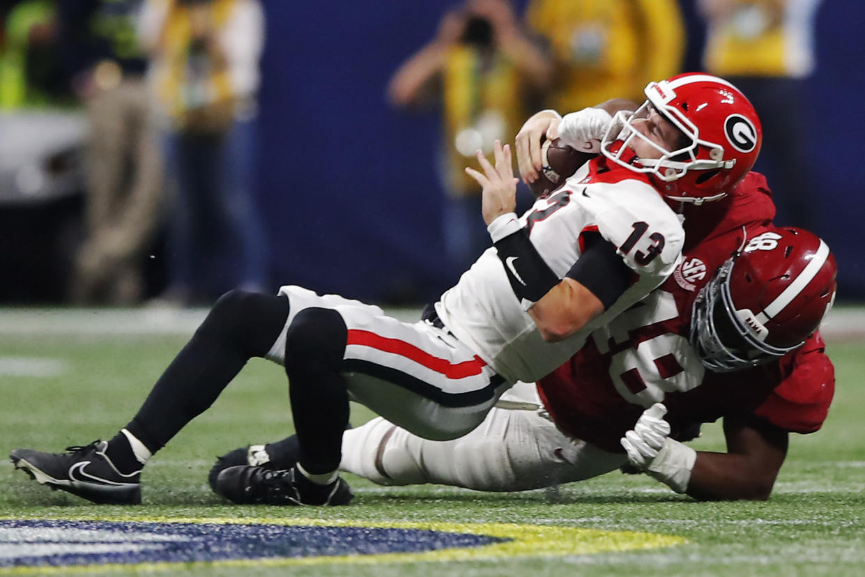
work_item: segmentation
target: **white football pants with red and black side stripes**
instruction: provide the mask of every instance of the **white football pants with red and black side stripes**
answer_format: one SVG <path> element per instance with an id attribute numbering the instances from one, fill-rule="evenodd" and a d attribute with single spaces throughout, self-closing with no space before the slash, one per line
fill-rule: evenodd
<path id="1" fill-rule="evenodd" d="M 427 439 L 468 433 L 510 386 L 447 330 L 403 323 L 375 305 L 300 286 L 279 292 L 289 299 L 288 317 L 267 359 L 285 365 L 286 334 L 298 312 L 336 311 L 348 331 L 340 370 L 351 400 Z"/>

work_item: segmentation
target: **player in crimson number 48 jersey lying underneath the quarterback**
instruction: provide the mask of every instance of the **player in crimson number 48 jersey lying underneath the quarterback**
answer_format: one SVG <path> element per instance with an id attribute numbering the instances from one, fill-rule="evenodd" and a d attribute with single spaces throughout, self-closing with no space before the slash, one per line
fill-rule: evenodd
<path id="1" fill-rule="evenodd" d="M 832 364 L 811 333 L 834 298 L 835 262 L 814 235 L 768 224 L 765 184 L 747 176 L 672 278 L 536 387 L 520 383 L 504 394 L 477 429 L 435 442 L 371 420 L 343 433 L 343 470 L 379 484 L 527 490 L 630 462 L 693 497 L 769 497 L 789 433 L 819 429 L 832 399 Z M 738 337 L 723 324 L 727 305 L 743 319 Z M 719 418 L 727 453 L 675 440 Z M 296 458 L 294 438 L 237 449 L 217 462 L 210 482 L 230 465 L 271 469 Z"/>

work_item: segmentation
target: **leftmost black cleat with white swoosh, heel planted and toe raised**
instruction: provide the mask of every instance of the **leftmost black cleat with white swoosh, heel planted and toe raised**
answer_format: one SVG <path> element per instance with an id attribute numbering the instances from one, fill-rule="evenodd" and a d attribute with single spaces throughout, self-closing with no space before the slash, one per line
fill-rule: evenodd
<path id="1" fill-rule="evenodd" d="M 141 471 L 125 475 L 106 455 L 107 441 L 69 446 L 65 453 L 13 449 L 10 459 L 39 484 L 65 490 L 93 503 L 141 503 Z"/>

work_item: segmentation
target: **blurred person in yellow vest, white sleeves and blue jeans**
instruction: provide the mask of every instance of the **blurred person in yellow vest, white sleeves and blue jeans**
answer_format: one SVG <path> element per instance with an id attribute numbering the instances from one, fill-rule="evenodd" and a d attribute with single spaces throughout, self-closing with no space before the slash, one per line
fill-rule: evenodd
<path id="1" fill-rule="evenodd" d="M 259 59 L 257 0 L 147 0 L 141 36 L 166 122 L 169 287 L 189 305 L 227 289 L 265 288 L 268 247 L 254 200 Z"/>

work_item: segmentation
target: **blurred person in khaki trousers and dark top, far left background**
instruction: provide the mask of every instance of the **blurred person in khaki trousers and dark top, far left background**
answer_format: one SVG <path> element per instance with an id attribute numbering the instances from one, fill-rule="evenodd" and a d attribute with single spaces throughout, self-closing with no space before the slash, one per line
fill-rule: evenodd
<path id="1" fill-rule="evenodd" d="M 141 0 L 75 0 L 58 5 L 74 92 L 86 105 L 86 240 L 76 259 L 77 304 L 132 305 L 157 228 L 162 167 L 146 60 L 138 45 Z"/>

